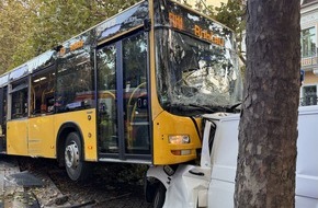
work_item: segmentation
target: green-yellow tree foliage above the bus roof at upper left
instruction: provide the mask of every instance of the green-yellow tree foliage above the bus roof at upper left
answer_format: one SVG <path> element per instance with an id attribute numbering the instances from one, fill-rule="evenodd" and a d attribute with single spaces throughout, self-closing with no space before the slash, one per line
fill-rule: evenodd
<path id="1" fill-rule="evenodd" d="M 8 71 L 138 0 L 1 0 L 0 72 Z"/>

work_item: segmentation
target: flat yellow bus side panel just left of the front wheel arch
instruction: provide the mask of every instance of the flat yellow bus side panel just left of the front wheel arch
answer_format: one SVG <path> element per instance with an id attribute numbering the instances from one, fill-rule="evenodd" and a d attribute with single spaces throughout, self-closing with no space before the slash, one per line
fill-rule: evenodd
<path id="1" fill-rule="evenodd" d="M 29 155 L 56 158 L 54 116 L 37 116 L 29 119 Z"/>

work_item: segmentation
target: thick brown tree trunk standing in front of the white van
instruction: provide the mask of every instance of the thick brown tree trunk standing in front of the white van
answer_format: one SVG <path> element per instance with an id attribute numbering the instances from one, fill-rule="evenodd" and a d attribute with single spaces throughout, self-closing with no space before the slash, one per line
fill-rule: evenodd
<path id="1" fill-rule="evenodd" d="M 248 0 L 235 206 L 295 207 L 299 0 Z"/>

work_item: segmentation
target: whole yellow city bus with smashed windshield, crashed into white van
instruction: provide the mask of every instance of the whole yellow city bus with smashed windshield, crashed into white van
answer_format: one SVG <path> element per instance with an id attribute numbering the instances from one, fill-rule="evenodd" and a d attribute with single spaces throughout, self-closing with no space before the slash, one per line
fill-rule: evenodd
<path id="1" fill-rule="evenodd" d="M 0 77 L 3 154 L 91 162 L 193 161 L 201 115 L 231 111 L 232 32 L 171 0 L 141 1 Z"/>

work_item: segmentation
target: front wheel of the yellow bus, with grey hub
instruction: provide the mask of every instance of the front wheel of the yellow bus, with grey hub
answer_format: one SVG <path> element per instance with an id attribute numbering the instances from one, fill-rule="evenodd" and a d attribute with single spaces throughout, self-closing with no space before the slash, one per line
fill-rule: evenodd
<path id="1" fill-rule="evenodd" d="M 65 166 L 72 181 L 82 181 L 88 176 L 87 163 L 82 159 L 82 143 L 77 132 L 70 132 L 65 146 Z"/>

